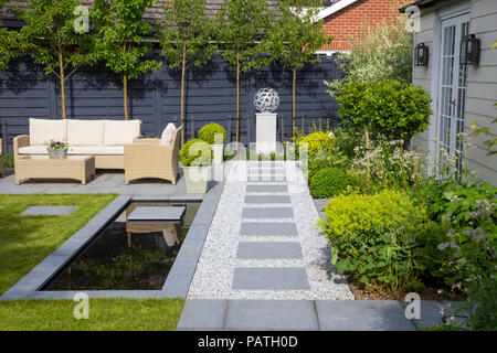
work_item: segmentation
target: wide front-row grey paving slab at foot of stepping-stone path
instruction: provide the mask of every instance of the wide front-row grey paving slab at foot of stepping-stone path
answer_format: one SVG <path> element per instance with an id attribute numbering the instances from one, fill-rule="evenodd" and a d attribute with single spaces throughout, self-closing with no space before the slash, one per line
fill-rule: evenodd
<path id="1" fill-rule="evenodd" d="M 314 302 L 308 300 L 230 300 L 228 330 L 318 330 Z"/>

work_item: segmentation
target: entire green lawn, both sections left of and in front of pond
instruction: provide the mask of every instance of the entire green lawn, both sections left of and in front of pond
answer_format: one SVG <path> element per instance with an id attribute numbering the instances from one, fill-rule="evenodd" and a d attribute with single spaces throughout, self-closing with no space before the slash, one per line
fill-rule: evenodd
<path id="1" fill-rule="evenodd" d="M 0 295 L 116 197 L 115 194 L 0 195 Z M 21 216 L 36 205 L 78 205 L 67 216 Z M 175 330 L 182 299 L 91 299 L 76 320 L 72 300 L 0 301 L 0 330 Z"/>

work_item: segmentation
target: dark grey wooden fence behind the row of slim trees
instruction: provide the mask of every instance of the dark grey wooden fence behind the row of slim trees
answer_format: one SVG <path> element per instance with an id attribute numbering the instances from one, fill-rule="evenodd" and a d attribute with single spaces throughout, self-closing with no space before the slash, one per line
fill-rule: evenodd
<path id="1" fill-rule="evenodd" d="M 162 69 L 129 83 L 129 115 L 144 122 L 146 136 L 160 136 L 163 127 L 180 120 L 180 72 Z M 321 63 L 307 65 L 297 74 L 297 127 L 308 131 L 313 124 L 337 124 L 337 104 L 326 93 L 324 81 L 341 76 L 334 56 L 321 57 Z M 277 65 L 242 75 L 241 141 L 255 140 L 255 92 L 262 87 L 275 88 L 281 97 L 277 109 L 278 140 L 292 135 L 292 73 Z M 210 121 L 231 128 L 235 138 L 236 92 L 235 76 L 228 65 L 214 57 L 211 63 L 188 72 L 186 85 L 186 137 L 197 136 Z M 0 72 L 0 120 L 7 125 L 8 151 L 12 138 L 28 133 L 28 119 L 61 117 L 59 82 L 45 76 L 40 66 L 29 58 L 14 61 Z M 105 66 L 81 69 L 66 84 L 67 118 L 123 119 L 120 78 Z M 230 120 L 231 117 L 231 120 Z M 3 137 L 4 138 L 4 137 Z"/>

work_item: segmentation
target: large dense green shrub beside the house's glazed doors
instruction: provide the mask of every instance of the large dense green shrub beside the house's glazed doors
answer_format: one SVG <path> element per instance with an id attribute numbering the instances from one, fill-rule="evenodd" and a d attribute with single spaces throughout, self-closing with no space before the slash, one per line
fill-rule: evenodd
<path id="1" fill-rule="evenodd" d="M 426 129 L 432 114 L 430 95 L 423 88 L 393 79 L 347 83 L 337 101 L 343 126 L 367 126 L 390 140 L 409 141 Z"/>

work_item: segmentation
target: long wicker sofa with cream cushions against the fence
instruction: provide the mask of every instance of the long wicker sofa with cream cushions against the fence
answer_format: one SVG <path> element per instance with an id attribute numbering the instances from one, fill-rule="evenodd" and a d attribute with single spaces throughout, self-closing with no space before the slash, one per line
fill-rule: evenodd
<path id="1" fill-rule="evenodd" d="M 21 156 L 47 154 L 45 143 L 66 141 L 70 156 L 94 156 L 96 169 L 124 169 L 125 145 L 141 136 L 140 120 L 30 119 L 30 135 L 13 139 Z"/>

